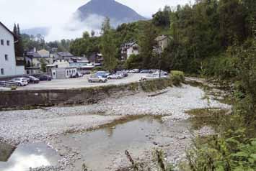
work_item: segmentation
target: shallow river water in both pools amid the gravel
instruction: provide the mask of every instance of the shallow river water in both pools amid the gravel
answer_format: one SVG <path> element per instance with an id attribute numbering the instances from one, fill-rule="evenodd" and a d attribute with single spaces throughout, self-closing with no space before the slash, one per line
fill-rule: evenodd
<path id="1" fill-rule="evenodd" d="M 177 145 L 179 134 L 185 131 L 187 126 L 187 121 L 164 123 L 161 117 L 141 116 L 121 123 L 117 121 L 82 134 L 62 135 L 58 137 L 58 142 L 76 149 L 81 155 L 74 163 L 75 170 L 80 171 L 83 164 L 92 170 L 105 170 L 107 166 L 111 167 L 113 162 L 127 160 L 125 150 L 133 157 L 138 157 L 146 150 L 159 147 L 160 144 L 171 147 L 172 144 Z M 173 148 L 175 150 L 175 145 Z M 57 152 L 46 144 L 21 144 L 7 162 L 0 162 L 0 170 L 27 171 L 30 167 L 57 165 L 59 158 Z"/>

